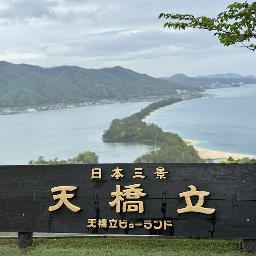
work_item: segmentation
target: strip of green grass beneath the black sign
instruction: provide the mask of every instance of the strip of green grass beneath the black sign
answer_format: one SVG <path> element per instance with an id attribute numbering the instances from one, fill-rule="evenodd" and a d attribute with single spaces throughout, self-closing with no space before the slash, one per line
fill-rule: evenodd
<path id="1" fill-rule="evenodd" d="M 235 240 L 165 238 L 35 238 L 32 246 L 19 249 L 16 239 L 0 239 L 0 255 L 175 255 L 256 256 L 244 253 Z"/>

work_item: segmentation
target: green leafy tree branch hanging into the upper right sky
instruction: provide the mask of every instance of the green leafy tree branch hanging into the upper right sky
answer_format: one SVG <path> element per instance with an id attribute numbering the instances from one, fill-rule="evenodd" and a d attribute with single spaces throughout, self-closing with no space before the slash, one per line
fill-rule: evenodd
<path id="1" fill-rule="evenodd" d="M 256 50 L 256 2 L 248 4 L 234 2 L 227 7 L 227 10 L 218 14 L 217 18 L 200 16 L 195 18 L 192 14 L 164 14 L 159 19 L 171 19 L 164 24 L 165 27 L 174 29 L 202 28 L 209 31 L 216 31 L 219 41 L 225 46 L 234 45 Z M 175 22 L 174 20 L 178 20 Z M 250 42 L 254 40 L 254 42 Z"/>

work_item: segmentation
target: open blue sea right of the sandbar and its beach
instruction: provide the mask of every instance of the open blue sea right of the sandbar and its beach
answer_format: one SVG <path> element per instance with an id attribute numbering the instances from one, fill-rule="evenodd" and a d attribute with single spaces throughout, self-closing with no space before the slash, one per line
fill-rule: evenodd
<path id="1" fill-rule="evenodd" d="M 201 148 L 256 156 L 256 84 L 206 93 L 216 96 L 167 106 L 147 121 Z"/>

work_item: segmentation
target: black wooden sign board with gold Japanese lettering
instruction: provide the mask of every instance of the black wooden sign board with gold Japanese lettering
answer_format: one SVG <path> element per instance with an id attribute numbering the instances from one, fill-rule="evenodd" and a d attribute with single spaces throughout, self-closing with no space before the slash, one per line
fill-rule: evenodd
<path id="1" fill-rule="evenodd" d="M 0 166 L 0 231 L 256 238 L 256 164 Z"/>

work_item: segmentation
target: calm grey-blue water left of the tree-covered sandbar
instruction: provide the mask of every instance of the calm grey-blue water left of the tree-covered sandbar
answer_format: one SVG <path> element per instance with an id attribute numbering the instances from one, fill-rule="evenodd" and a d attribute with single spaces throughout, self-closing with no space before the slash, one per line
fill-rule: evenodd
<path id="1" fill-rule="evenodd" d="M 155 145 L 105 143 L 102 134 L 114 118 L 130 116 L 148 104 L 106 104 L 0 116 L 0 165 L 28 164 L 38 156 L 67 159 L 84 151 L 95 152 L 101 163 L 133 162 L 156 149 Z"/>

